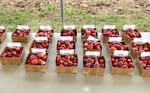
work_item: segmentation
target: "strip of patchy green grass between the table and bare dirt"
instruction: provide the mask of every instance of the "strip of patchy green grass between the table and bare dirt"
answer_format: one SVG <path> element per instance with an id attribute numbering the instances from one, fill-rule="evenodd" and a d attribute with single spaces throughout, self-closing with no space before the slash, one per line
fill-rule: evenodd
<path id="1" fill-rule="evenodd" d="M 0 11 L 0 23 L 6 26 L 7 31 L 13 31 L 18 24 L 25 24 L 31 27 L 32 31 L 37 31 L 40 25 L 51 25 L 56 32 L 60 32 L 61 18 L 60 11 L 56 11 L 53 5 L 47 5 L 43 12 L 24 11 Z M 113 24 L 121 30 L 124 24 L 135 24 L 142 31 L 150 29 L 149 17 L 138 14 L 132 10 L 120 10 L 112 15 L 108 14 L 88 14 L 81 9 L 72 7 L 65 8 L 65 24 L 76 25 L 78 32 L 84 24 L 94 24 L 100 31 L 103 25 Z"/>

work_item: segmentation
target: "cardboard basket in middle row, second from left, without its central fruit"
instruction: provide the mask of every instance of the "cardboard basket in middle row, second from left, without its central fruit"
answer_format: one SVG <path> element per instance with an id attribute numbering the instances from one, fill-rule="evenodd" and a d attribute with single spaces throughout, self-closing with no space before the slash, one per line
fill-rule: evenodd
<path id="1" fill-rule="evenodd" d="M 74 46 L 72 46 L 72 48 L 71 49 L 65 49 L 65 47 L 64 47 L 64 49 L 59 49 L 59 45 L 61 45 L 61 44 L 59 44 L 59 42 L 70 42 L 70 43 L 72 43 L 72 44 L 74 44 Z M 75 53 L 75 42 L 74 41 L 69 41 L 69 40 L 58 40 L 57 41 L 57 54 L 60 54 L 61 52 L 65 52 L 64 50 L 74 50 L 74 53 Z"/>

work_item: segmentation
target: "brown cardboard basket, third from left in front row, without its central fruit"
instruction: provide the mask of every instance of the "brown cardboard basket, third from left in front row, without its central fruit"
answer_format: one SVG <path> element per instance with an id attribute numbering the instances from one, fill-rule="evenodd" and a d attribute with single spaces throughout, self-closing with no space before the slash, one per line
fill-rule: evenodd
<path id="1" fill-rule="evenodd" d="M 69 54 L 69 55 L 76 57 L 75 65 L 74 65 L 74 63 L 71 66 L 70 65 L 65 65 L 63 62 L 60 63 L 58 56 L 65 57 L 66 55 L 58 54 L 57 57 L 56 57 L 56 72 L 57 73 L 77 73 L 77 70 L 78 70 L 78 68 L 77 68 L 77 66 L 78 66 L 78 56 L 77 56 L 77 54 Z"/>

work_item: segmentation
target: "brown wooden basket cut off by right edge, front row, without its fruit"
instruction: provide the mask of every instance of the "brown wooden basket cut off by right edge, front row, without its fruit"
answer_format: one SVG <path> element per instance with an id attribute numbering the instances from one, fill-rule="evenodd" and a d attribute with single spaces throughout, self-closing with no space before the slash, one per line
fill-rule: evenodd
<path id="1" fill-rule="evenodd" d="M 140 63 L 139 58 L 137 60 L 137 66 L 138 66 L 138 69 L 139 69 L 139 72 L 140 72 L 141 76 L 150 77 L 150 70 L 146 70 L 146 69 L 143 68 L 143 66 Z"/>

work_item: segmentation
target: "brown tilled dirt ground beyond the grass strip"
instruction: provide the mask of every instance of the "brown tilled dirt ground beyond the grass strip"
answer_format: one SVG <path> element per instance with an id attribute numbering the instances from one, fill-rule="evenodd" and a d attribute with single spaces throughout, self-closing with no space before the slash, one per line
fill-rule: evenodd
<path id="1" fill-rule="evenodd" d="M 87 13 L 113 14 L 122 9 L 150 14 L 150 0 L 64 0 L 65 7 L 83 9 Z M 0 8 L 11 11 L 32 9 L 33 12 L 43 11 L 48 4 L 60 9 L 60 0 L 0 0 Z"/>

